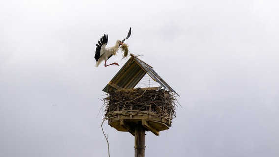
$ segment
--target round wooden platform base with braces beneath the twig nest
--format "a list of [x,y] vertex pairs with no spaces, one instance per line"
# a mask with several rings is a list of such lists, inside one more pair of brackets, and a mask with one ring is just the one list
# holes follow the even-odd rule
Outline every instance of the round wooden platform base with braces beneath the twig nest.
[[151,131],[155,135],[159,135],[160,131],[169,129],[171,126],[171,119],[168,117],[160,116],[156,113],[146,112],[146,113],[121,113],[115,112],[112,114],[109,120],[109,125],[115,128],[117,131],[127,131],[135,136],[135,126],[138,122],[146,129],[146,131]]

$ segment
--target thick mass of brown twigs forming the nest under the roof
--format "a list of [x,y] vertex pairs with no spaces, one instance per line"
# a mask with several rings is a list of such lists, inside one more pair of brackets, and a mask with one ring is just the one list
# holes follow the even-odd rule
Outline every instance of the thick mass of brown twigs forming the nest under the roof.
[[122,115],[153,115],[171,120],[175,117],[175,97],[166,89],[122,89],[104,98],[105,118]]

